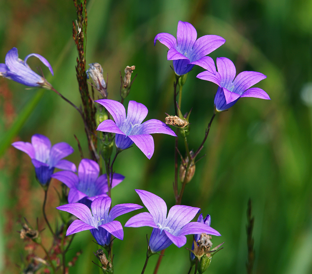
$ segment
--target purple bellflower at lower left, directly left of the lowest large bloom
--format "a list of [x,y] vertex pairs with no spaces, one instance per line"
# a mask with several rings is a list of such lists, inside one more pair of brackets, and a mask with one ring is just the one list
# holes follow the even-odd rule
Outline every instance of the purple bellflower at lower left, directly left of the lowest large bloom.
[[90,229],[91,234],[99,245],[109,245],[111,235],[123,240],[124,231],[119,221],[115,218],[140,209],[143,206],[138,204],[117,204],[110,210],[110,197],[98,197],[91,203],[91,211],[85,204],[74,203],[64,204],[57,209],[69,212],[75,215],[79,220],[71,223],[67,229],[66,236],[80,231]]

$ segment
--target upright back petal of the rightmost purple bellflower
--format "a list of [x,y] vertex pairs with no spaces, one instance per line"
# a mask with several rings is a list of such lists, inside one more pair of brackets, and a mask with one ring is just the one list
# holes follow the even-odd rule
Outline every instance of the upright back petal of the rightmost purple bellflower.
[[221,87],[225,87],[227,89],[231,89],[232,87],[234,87],[234,84],[232,84],[232,82],[236,75],[236,69],[233,62],[226,57],[218,57],[217,68],[221,76]]

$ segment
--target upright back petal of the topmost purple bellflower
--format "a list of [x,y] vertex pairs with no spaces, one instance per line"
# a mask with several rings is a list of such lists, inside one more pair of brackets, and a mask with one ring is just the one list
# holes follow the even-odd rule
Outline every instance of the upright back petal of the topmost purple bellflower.
[[177,49],[180,52],[192,49],[197,38],[197,31],[192,24],[188,22],[178,22],[177,30]]

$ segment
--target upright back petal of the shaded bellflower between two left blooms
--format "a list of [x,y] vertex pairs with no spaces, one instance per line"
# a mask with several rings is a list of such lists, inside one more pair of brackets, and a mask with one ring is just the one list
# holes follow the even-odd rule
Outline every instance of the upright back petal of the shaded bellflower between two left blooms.
[[97,162],[90,159],[82,159],[78,166],[78,177],[84,185],[94,184],[100,173]]

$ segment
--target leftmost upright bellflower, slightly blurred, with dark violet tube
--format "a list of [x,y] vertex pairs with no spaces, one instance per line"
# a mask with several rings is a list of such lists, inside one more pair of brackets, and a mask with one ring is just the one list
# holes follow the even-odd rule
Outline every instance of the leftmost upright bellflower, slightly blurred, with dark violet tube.
[[46,185],[50,182],[55,167],[74,172],[77,171],[76,166],[72,162],[62,160],[74,152],[74,149],[65,142],[57,143],[51,147],[48,137],[35,134],[32,136],[32,143],[14,142],[12,146],[24,151],[32,159],[37,180],[41,185]]

